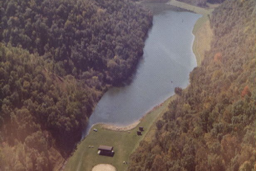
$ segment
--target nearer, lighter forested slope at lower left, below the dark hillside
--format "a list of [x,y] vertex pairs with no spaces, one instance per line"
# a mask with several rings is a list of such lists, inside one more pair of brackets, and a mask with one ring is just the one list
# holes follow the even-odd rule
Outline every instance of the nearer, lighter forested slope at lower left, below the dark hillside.
[[51,170],[79,140],[95,91],[50,73],[42,56],[10,45],[1,45],[1,53],[0,168]]

